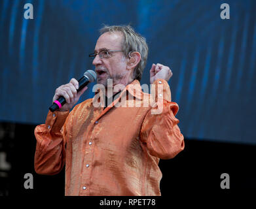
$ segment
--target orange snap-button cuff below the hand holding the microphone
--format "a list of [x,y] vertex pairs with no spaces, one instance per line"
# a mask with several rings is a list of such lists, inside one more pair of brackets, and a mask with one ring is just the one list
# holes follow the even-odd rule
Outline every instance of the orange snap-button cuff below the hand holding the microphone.
[[67,116],[69,115],[69,110],[67,111],[54,111],[51,112],[49,110],[47,114],[47,118],[45,121],[46,128],[49,131],[60,131],[62,129],[62,126],[65,123],[65,120]]

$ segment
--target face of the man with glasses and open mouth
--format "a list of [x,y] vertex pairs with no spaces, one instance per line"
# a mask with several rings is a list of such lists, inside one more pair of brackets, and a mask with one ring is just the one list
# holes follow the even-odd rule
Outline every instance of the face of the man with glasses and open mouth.
[[[97,40],[94,52],[101,50],[122,50],[121,33],[103,33]],[[123,52],[109,52],[109,58],[100,58],[97,55],[92,62],[97,73],[97,83],[107,87],[107,79],[113,79],[113,85],[125,84],[127,80],[126,57]]]

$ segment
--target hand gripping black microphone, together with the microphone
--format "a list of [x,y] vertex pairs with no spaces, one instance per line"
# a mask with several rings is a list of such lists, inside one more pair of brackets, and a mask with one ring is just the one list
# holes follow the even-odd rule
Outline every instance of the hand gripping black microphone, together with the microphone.
[[88,89],[87,85],[94,82],[94,80],[96,80],[96,73],[89,70],[84,72],[84,75],[78,81],[72,78],[68,84],[57,88],[52,99],[53,104],[49,108],[50,111],[70,110],[79,101],[82,93]]

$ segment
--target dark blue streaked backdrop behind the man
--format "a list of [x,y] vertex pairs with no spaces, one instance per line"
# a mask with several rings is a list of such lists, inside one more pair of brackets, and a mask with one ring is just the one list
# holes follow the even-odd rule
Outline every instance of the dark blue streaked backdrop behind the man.
[[174,72],[185,137],[256,144],[256,1],[1,0],[0,12],[0,121],[44,123],[55,89],[94,69],[88,54],[102,24],[131,24],[149,44],[141,84],[152,63]]

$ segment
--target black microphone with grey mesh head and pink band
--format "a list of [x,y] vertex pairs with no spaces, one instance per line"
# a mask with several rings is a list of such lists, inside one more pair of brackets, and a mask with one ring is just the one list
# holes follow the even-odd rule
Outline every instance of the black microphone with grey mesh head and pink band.
[[[78,80],[79,82],[79,88],[77,89],[77,92],[79,92],[84,86],[87,86],[90,82],[94,82],[96,80],[96,73],[94,71],[88,70],[84,72],[84,75],[82,78]],[[66,103],[64,97],[60,97],[56,101],[53,102],[53,104],[49,107],[49,110],[54,112],[55,110],[58,110],[62,108],[62,106]]]

